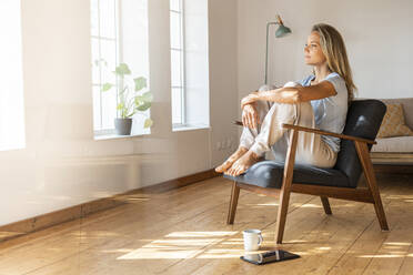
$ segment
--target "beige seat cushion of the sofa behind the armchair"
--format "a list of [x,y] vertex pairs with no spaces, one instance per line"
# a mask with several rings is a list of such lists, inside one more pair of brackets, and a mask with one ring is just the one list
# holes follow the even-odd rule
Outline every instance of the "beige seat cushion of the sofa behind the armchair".
[[413,136],[395,136],[376,139],[372,152],[413,153]]

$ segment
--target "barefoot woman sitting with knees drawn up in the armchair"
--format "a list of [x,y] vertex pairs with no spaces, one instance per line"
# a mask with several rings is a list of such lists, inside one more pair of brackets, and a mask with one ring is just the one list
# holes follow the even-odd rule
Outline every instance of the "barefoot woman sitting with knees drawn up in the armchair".
[[[242,99],[240,146],[216,172],[240,175],[270,150],[276,161],[284,161],[289,131],[282,123],[343,131],[355,85],[341,34],[329,24],[313,26],[304,58],[313,67],[312,75],[294,85],[256,91]],[[332,167],[339,151],[338,138],[300,132],[295,162]]]

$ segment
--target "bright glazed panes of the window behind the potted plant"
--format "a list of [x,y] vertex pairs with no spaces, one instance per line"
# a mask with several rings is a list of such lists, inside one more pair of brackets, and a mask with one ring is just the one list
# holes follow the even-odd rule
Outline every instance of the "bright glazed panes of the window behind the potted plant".
[[91,0],[93,125],[95,132],[114,129],[117,93],[102,92],[115,83],[119,63],[118,0]]

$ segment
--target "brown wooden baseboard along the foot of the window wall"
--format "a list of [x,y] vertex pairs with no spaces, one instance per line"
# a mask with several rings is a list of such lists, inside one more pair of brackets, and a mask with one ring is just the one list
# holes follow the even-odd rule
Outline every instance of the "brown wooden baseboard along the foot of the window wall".
[[180,179],[162,182],[148,187],[132,190],[127,193],[118,194],[111,197],[104,197],[82,203],[68,208],[54,211],[36,217],[19,221],[16,223],[2,225],[0,226],[0,242],[23,236],[29,233],[44,230],[53,225],[69,222],[79,217],[84,217],[99,211],[109,210],[122,204],[127,204],[128,200],[125,200],[127,198],[125,196],[131,195],[133,193],[141,194],[163,193],[173,189],[187,186],[192,183],[208,180],[218,175],[219,174],[214,170],[208,170]]

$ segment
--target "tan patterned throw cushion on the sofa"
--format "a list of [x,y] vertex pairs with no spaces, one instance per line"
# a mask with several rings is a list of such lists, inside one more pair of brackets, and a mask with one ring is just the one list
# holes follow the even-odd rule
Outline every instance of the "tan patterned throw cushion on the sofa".
[[413,135],[413,131],[404,122],[402,104],[386,103],[386,112],[380,126],[377,138]]

